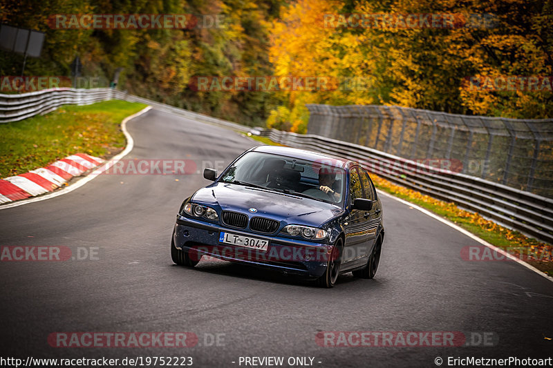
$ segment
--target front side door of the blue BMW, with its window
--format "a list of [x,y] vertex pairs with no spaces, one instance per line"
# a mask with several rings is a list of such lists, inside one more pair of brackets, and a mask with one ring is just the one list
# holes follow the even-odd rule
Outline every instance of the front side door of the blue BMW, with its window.
[[368,246],[368,215],[366,211],[353,209],[355,198],[363,198],[362,180],[357,167],[350,169],[349,175],[349,203],[348,209],[350,215],[344,223],[344,232],[346,233],[346,242],[342,262],[355,262],[362,260],[370,249]]

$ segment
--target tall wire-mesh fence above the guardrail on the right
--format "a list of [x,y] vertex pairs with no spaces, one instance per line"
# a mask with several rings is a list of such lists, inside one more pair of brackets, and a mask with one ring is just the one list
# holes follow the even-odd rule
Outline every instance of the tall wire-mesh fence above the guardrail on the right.
[[308,134],[406,159],[455,159],[465,175],[553,197],[553,119],[508,119],[400,106],[307,104]]

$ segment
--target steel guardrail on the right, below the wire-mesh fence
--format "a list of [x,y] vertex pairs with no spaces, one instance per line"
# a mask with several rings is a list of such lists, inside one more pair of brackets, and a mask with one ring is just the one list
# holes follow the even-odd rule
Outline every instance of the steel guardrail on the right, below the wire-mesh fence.
[[440,170],[373,148],[319,135],[263,130],[274,142],[353,159],[394,184],[420,191],[553,244],[553,199],[461,173]]

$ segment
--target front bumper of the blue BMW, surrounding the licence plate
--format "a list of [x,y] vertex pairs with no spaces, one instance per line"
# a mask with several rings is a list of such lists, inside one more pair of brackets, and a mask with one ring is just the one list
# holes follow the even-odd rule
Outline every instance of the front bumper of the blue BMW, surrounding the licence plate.
[[[219,241],[221,231],[268,240],[267,251]],[[177,215],[173,240],[177,249],[189,252],[192,260],[209,255],[221,260],[277,269],[283,273],[319,278],[326,271],[331,244],[307,242],[277,235],[263,235]]]

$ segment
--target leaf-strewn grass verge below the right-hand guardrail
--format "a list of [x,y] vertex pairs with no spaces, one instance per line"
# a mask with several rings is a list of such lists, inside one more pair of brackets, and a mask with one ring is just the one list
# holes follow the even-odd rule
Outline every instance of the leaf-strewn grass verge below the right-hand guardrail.
[[[263,144],[276,144],[267,137],[252,136],[251,138]],[[278,144],[282,146],[281,144]],[[493,221],[486,220],[478,213],[460,209],[453,203],[436,200],[403,186],[395,185],[388,180],[371,173],[371,178],[377,188],[396,197],[402,198],[440,217],[443,217],[463,229],[470,231],[479,238],[512,253],[536,269],[553,276],[553,246],[529,238],[518,231],[509,230]],[[482,256],[482,259],[486,259]]]

